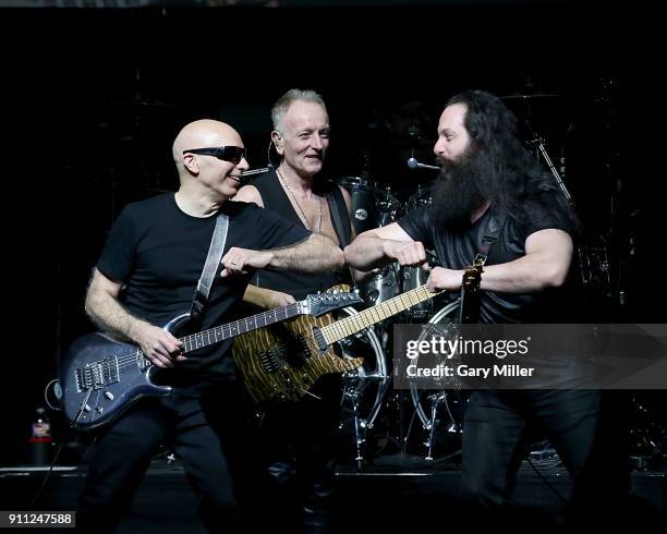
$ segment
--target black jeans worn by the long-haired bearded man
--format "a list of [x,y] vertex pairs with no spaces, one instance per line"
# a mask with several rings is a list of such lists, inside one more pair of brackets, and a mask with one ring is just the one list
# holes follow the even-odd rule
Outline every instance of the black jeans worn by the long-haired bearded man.
[[[570,518],[608,515],[628,488],[624,417],[598,390],[475,391],[465,412],[463,488],[487,511],[509,503],[526,430],[551,441],[568,469]],[[614,392],[611,392],[614,393]]]

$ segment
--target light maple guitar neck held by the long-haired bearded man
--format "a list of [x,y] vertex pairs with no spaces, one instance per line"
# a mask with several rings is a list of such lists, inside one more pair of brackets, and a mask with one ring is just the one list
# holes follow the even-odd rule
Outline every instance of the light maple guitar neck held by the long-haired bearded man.
[[387,317],[400,314],[409,307],[415,306],[428,299],[433,299],[439,293],[430,293],[426,286],[408,291],[403,294],[389,299],[381,304],[364,310],[344,319],[337,320],[320,329],[327,344],[340,341],[364,328],[375,325]]

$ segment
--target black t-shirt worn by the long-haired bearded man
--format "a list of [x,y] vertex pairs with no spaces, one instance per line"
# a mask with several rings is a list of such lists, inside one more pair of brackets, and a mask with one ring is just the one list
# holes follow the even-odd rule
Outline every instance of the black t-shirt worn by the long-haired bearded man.
[[[430,219],[430,208],[423,207],[408,213],[399,226],[414,241],[421,241],[426,248],[435,250],[442,266],[449,269],[463,269],[472,265],[481,252],[482,240],[487,232],[488,220],[493,217],[488,209],[473,224],[464,229],[435,228]],[[525,240],[532,233],[545,229],[568,231],[550,210],[544,210],[527,223],[520,224],[514,218],[505,217],[498,241],[490,247],[486,265],[512,262],[525,255]],[[482,291],[480,302],[481,323],[548,323],[549,292],[535,294],[499,293]]]

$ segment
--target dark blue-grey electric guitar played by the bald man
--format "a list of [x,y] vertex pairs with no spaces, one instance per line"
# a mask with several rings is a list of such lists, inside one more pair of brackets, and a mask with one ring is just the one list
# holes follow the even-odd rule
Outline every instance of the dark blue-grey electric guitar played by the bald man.
[[[360,302],[359,295],[349,292],[308,295],[284,307],[182,337],[180,341],[186,354],[298,315],[317,317]],[[178,332],[189,320],[189,313],[179,315],[163,329]],[[104,333],[84,336],[61,359],[62,411],[69,423],[78,429],[98,428],[142,397],[168,395],[171,387],[153,383],[156,372],[159,373],[159,367],[154,366],[138,347],[116,341]]]

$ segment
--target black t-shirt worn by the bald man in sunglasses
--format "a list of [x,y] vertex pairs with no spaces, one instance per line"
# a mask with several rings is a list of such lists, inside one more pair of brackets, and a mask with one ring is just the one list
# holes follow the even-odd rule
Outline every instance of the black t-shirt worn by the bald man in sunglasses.
[[[256,204],[226,202],[229,216],[225,253],[232,246],[268,250],[305,240],[310,232]],[[174,316],[190,312],[196,283],[202,276],[216,217],[184,214],[173,193],[128,205],[113,224],[97,268],[124,284],[123,306],[134,316],[163,326]],[[221,278],[218,267],[209,304],[195,331],[234,318],[232,306],[243,298],[250,275]],[[177,335],[178,337],[178,335]],[[230,359],[223,357],[232,340],[187,354],[187,361],[165,380],[194,387],[233,376]]]

